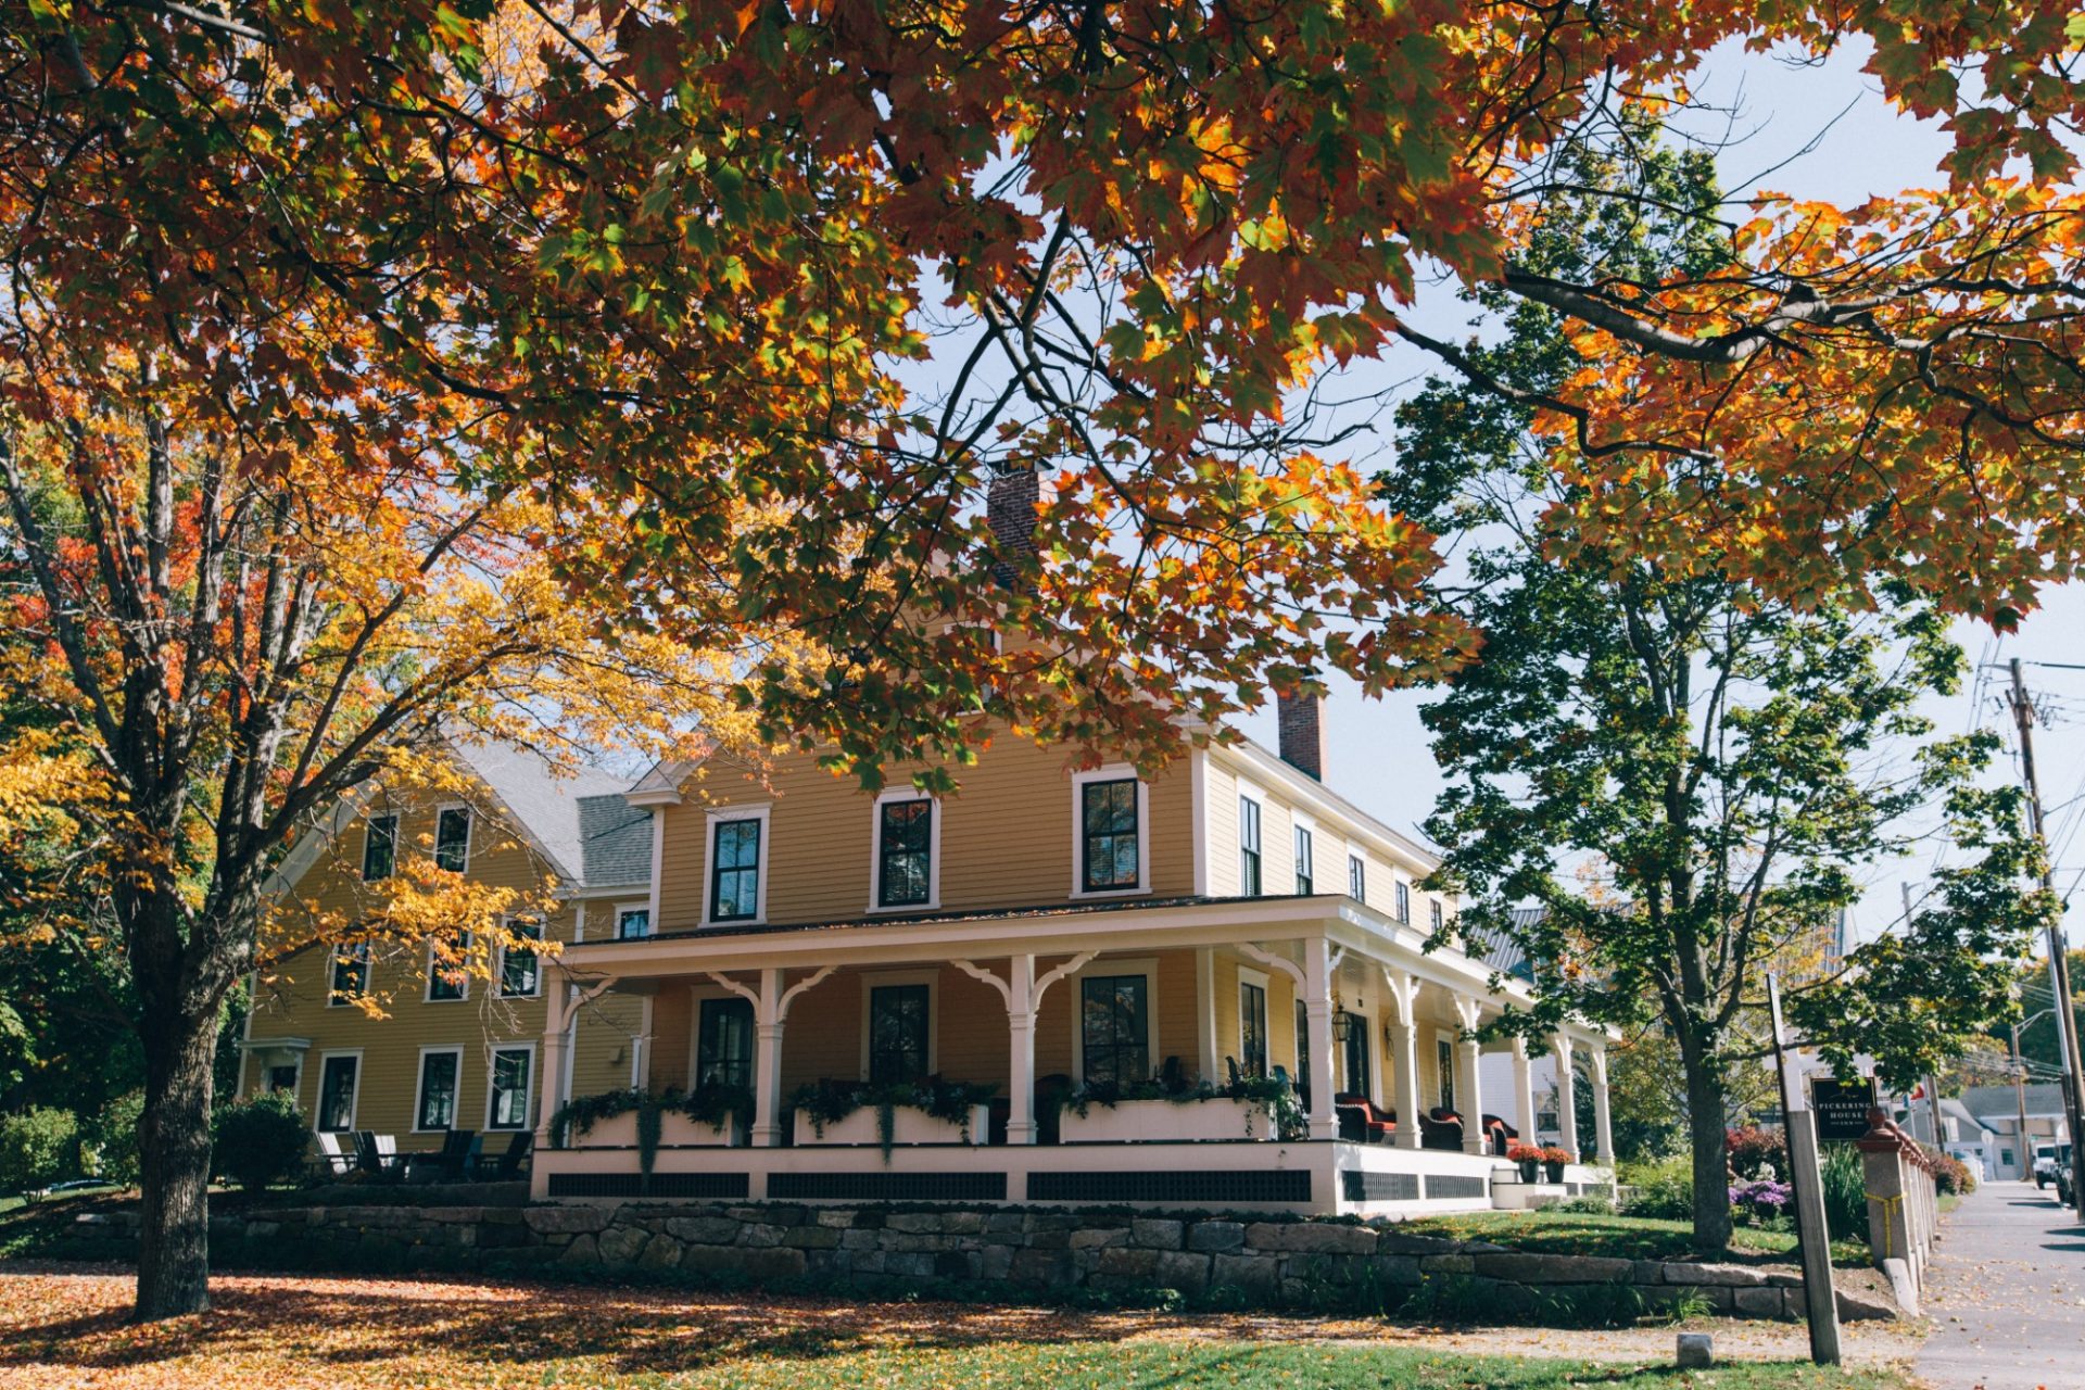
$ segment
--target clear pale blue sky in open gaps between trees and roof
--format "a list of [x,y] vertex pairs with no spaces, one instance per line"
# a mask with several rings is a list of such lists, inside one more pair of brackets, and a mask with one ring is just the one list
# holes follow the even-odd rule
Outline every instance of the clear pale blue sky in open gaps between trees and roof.
[[[1947,135],[1897,115],[1860,71],[1864,56],[1847,50],[1818,65],[1791,65],[1745,54],[1737,46],[1714,50],[1695,81],[1695,98],[1735,108],[1735,115],[1697,113],[1689,129],[1718,142],[1726,131],[1739,135],[1720,154],[1724,185],[1731,192],[1770,190],[1841,204],[1935,185],[1935,165],[1945,152]],[[1462,306],[1443,290],[1434,300],[1422,302],[1420,317],[1430,319],[1430,329],[1460,329]],[[1428,367],[1414,354],[1391,358],[1376,373],[1387,373],[1382,381],[1395,381]],[[1981,623],[1962,623],[1958,640],[1974,663],[2020,656],[2085,667],[2085,586],[2045,592],[2043,609],[2012,636],[2000,638]],[[1960,696],[1929,700],[1927,713],[1941,731],[1962,731],[1974,723],[2006,731],[2008,759],[2000,771],[2016,775],[2012,719],[1995,700],[2004,671],[1989,675],[1995,686],[1972,684]],[[2027,681],[2050,717],[2047,727],[2035,729],[2035,754],[2056,846],[2056,886],[2058,892],[2070,892],[2085,879],[2085,669],[2031,665]],[[1336,684],[1326,709],[1330,781],[1362,809],[1405,831],[1416,831],[1443,786],[1418,719],[1424,702],[1424,692],[1364,700],[1351,684]],[[1274,744],[1272,711],[1238,723],[1253,738]],[[1908,882],[1916,896],[1933,867],[1931,850],[1879,865],[1854,913],[1856,934],[1872,936],[1897,919],[1899,884]],[[2066,925],[2075,942],[2085,942],[2085,890],[2077,892]]]

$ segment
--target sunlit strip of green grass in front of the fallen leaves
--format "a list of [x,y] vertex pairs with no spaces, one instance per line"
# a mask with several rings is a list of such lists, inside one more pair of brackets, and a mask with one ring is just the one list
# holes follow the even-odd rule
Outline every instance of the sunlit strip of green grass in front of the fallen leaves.
[[[559,1384],[555,1380],[546,1384]],[[580,1382],[569,1382],[580,1384]],[[584,1382],[619,1386],[621,1382]],[[1683,1380],[1672,1367],[1633,1367],[1585,1361],[1524,1361],[1520,1357],[1468,1357],[1401,1346],[1324,1346],[1280,1342],[1122,1342],[965,1348],[905,1348],[819,1357],[769,1355],[751,1363],[701,1371],[686,1386],[705,1390],[821,1390],[826,1386],[878,1386],[928,1390],[963,1386],[1001,1390],[1176,1390],[1180,1386],[1322,1386],[1328,1390],[1670,1390],[1714,1384],[1718,1390],[1906,1390],[1912,1382],[1891,1371],[1837,1371],[1795,1363],[1722,1363],[1714,1382]]]

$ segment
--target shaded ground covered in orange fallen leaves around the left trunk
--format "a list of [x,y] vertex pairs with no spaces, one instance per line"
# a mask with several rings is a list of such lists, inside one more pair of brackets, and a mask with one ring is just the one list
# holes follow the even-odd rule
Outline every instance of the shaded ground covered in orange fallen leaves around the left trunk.
[[[25,1267],[75,1286],[81,1267]],[[6,1280],[0,1280],[4,1284]],[[77,1292],[77,1290],[73,1290]],[[133,1327],[127,1273],[94,1277],[100,1305],[54,1321],[0,1321],[0,1371],[25,1365],[119,1369],[190,1355],[294,1357],[319,1365],[427,1365],[438,1355],[475,1363],[598,1359],[617,1373],[696,1371],[719,1361],[819,1359],[876,1346],[961,1348],[1007,1342],[1118,1342],[1180,1319],[934,1302],[859,1302],[530,1286],[477,1280],[357,1280],[221,1275],[202,1317]],[[73,1296],[77,1309],[81,1298]],[[1251,1319],[1199,1315],[1213,1332]],[[4,1380],[4,1377],[0,1377]]]

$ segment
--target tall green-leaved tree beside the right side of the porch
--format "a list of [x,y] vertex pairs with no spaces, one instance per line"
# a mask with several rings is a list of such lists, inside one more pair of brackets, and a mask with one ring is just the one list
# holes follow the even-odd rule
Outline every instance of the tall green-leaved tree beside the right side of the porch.
[[[1628,160],[1587,150],[1560,181],[1635,198],[1557,192],[1526,250],[1545,273],[1708,277],[1728,256],[1685,215],[1716,202],[1706,156],[1647,140]],[[1480,302],[1507,329],[1468,348],[1487,375],[1547,394],[1576,371],[1549,308]],[[1503,934],[1535,961],[1537,1002],[1503,1027],[1655,1021],[1685,1077],[1695,1238],[1720,1250],[1724,1125],[1737,1071],[1762,1057],[1762,973],[1789,975],[1793,1015],[1835,1061],[1862,1052],[1904,1079],[1958,1054],[2010,1011],[2047,911],[2027,890],[2016,792],[1981,784],[1989,736],[1935,740],[1918,717],[1962,656],[1902,586],[1797,604],[1739,565],[1630,554],[1583,525],[1532,415],[1464,386],[1430,383],[1399,427],[1384,488],[1466,533],[1466,573],[1439,596],[1485,642],[1424,711],[1449,781],[1426,825],[1443,882],[1470,894],[1445,936]],[[1864,871],[1929,813],[1964,867],[1908,923],[1824,959]],[[1526,902],[1547,911],[1514,913]]]

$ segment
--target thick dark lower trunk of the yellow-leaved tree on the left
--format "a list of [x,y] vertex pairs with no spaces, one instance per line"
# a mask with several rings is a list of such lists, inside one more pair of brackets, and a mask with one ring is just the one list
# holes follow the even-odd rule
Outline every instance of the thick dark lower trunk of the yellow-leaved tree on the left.
[[[154,1019],[152,1015],[167,1015]],[[200,1019],[146,1007],[138,1125],[138,1305],[133,1321],[211,1307],[211,1090],[217,1009]]]

